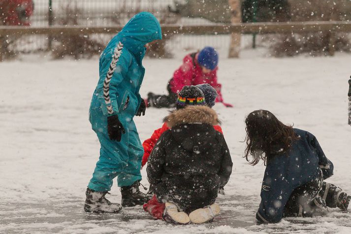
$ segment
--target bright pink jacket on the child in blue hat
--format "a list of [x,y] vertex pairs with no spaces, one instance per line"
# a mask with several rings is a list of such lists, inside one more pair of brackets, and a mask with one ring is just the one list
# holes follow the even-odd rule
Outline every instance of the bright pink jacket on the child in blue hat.
[[217,83],[217,70],[218,67],[209,73],[203,73],[200,65],[197,63],[197,54],[194,59],[192,59],[191,54],[188,54],[183,59],[183,65],[174,72],[173,78],[169,82],[170,88],[173,93],[178,94],[186,85],[208,83],[218,93],[216,102],[223,102],[222,85]]

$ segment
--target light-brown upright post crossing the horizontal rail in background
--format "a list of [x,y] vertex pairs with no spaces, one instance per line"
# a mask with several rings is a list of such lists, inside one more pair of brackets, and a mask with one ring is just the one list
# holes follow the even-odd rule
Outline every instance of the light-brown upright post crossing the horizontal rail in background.
[[[230,12],[231,12],[231,23],[241,22],[241,1],[240,0],[228,0]],[[229,45],[229,58],[239,58],[241,33],[231,33],[230,45]]]

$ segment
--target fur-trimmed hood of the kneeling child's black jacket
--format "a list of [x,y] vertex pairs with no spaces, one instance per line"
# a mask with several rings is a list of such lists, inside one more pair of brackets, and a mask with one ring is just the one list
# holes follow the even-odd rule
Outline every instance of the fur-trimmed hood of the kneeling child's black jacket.
[[199,105],[172,111],[164,121],[174,140],[196,154],[206,153],[213,146],[216,141],[213,125],[220,123],[216,111]]

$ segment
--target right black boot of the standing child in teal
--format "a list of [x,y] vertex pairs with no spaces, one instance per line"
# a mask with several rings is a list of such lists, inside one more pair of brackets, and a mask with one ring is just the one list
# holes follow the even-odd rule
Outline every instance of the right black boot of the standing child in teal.
[[130,186],[121,187],[122,206],[143,205],[148,201],[146,194],[139,190],[140,181],[135,181]]

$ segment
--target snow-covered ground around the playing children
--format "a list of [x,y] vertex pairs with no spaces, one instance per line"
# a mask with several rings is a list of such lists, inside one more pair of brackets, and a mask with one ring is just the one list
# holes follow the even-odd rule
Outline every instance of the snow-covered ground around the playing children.
[[[182,54],[183,55],[183,54]],[[351,213],[330,209],[324,217],[287,218],[256,225],[264,166],[242,158],[245,116],[259,108],[284,123],[315,134],[334,163],[327,181],[351,193],[351,127],[347,125],[347,80],[351,55],[275,59],[259,52],[220,61],[223,97],[217,104],[233,172],[220,195],[222,213],[212,223],[175,226],[153,220],[141,206],[121,214],[83,211],[86,186],[99,154],[88,121],[98,60],[49,61],[31,57],[0,63],[0,233],[351,233]],[[165,92],[181,63],[145,59],[141,88]],[[135,117],[141,140],[161,126],[166,109]],[[145,168],[144,185],[148,185]],[[107,198],[121,201],[116,185]]]

